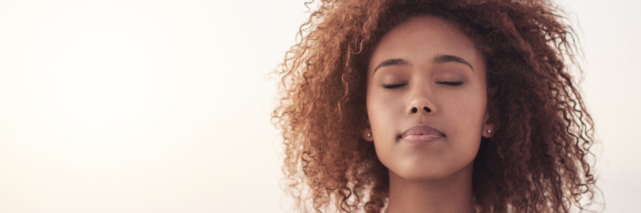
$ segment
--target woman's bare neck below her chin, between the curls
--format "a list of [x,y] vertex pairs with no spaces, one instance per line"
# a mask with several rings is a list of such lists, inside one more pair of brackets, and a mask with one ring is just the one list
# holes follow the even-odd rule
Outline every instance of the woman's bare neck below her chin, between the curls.
[[472,163],[438,180],[403,179],[390,170],[390,196],[386,213],[472,213]]

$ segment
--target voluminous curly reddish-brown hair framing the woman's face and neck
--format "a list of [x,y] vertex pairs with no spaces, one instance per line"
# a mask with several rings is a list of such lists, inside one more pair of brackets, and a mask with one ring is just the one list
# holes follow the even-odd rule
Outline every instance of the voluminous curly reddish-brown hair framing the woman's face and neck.
[[586,210],[596,189],[593,121],[570,75],[580,52],[562,14],[546,0],[322,0],[276,71],[272,122],[297,210],[384,209],[388,169],[360,137],[365,75],[380,38],[419,15],[455,24],[485,59],[500,126],[474,159],[478,212]]

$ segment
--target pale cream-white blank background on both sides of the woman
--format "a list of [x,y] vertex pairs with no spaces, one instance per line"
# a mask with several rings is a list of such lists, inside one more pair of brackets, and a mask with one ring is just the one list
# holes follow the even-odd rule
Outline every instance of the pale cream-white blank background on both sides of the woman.
[[[0,212],[288,209],[267,74],[303,3],[0,1]],[[641,4],[560,4],[581,29],[605,212],[641,212]]]

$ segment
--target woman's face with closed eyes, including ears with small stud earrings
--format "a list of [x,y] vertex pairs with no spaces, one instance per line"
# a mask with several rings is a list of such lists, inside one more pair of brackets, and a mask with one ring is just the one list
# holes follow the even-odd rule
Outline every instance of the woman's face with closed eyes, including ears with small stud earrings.
[[404,179],[471,172],[481,136],[491,136],[486,108],[485,64],[470,39],[444,20],[415,17],[372,54],[363,138]]

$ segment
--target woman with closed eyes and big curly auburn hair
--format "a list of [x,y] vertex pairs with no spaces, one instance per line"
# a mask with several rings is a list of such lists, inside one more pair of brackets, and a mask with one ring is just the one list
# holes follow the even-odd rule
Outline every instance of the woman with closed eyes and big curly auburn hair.
[[297,208],[585,209],[592,119],[559,13],[543,0],[322,1],[273,114]]

